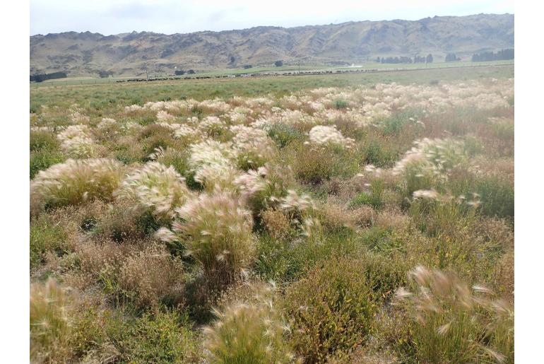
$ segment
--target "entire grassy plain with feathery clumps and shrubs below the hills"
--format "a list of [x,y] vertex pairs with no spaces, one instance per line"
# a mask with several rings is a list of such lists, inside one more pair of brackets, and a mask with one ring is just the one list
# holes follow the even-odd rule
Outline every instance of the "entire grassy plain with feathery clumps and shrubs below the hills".
[[63,82],[32,363],[514,363],[513,64]]

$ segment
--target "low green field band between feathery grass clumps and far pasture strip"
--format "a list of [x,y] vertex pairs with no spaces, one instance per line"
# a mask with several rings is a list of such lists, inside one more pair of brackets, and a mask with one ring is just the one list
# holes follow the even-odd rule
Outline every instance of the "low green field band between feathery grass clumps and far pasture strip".
[[[373,83],[430,83],[471,78],[511,78],[514,65],[480,66],[460,69],[426,69],[375,74],[326,74],[285,77],[212,78],[141,83],[97,83],[64,85],[42,83],[30,88],[30,109],[40,105],[67,107],[78,103],[91,113],[102,113],[117,105],[143,105],[148,101],[177,98],[232,98],[272,93],[285,95],[297,90],[319,87],[352,87]],[[100,80],[105,81],[105,80]]]

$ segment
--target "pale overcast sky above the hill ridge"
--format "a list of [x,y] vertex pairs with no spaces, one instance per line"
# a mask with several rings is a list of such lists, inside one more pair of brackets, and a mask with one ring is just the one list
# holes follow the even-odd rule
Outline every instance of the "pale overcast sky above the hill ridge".
[[30,35],[191,33],[254,26],[293,27],[360,20],[514,13],[513,0],[30,0]]

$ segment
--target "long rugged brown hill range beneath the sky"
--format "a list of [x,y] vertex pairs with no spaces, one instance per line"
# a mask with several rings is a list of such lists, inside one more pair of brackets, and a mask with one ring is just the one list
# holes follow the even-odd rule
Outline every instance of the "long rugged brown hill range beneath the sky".
[[[58,33],[30,37],[30,74],[71,75],[113,71],[140,75],[146,67],[173,73],[182,69],[252,64],[351,64],[377,56],[474,52],[514,47],[514,15],[435,16],[421,20],[359,21],[296,28],[256,27],[223,32]],[[232,57],[234,61],[232,62]]]

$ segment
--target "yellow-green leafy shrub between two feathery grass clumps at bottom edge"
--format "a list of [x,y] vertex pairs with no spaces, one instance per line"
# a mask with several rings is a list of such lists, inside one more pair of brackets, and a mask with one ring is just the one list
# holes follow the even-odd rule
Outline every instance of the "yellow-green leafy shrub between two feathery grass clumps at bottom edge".
[[372,287],[357,260],[321,262],[285,293],[290,342],[308,363],[323,363],[365,342],[375,311]]

